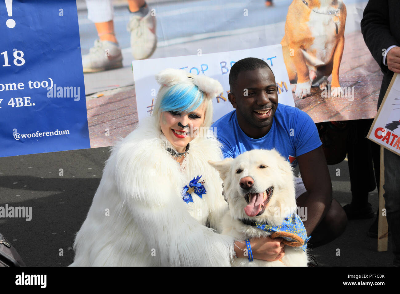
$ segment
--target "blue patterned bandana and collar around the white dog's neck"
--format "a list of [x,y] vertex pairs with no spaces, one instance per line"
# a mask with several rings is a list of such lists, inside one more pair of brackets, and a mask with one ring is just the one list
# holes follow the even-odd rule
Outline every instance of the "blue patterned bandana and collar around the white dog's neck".
[[301,247],[305,252],[307,242],[311,236],[307,238],[306,228],[300,217],[294,212],[290,216],[284,218],[284,221],[279,226],[270,226],[267,223],[255,222],[248,219],[240,219],[243,224],[259,228],[260,230],[270,232],[271,238],[281,237],[283,243],[292,247]]

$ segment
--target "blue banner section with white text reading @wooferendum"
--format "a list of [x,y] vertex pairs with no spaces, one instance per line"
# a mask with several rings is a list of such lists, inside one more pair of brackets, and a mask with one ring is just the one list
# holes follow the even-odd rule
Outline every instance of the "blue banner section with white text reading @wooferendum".
[[90,148],[76,1],[0,2],[0,157]]

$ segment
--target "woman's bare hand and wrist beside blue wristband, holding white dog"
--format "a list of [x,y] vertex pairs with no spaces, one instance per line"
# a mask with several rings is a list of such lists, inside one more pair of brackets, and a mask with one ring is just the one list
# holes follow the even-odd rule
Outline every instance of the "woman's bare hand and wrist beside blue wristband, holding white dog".
[[[249,240],[253,253],[253,259],[275,261],[280,260],[285,255],[285,244],[282,243],[282,238],[271,239],[269,237],[262,237],[251,238]],[[236,251],[236,255],[238,256],[238,258],[248,258],[248,255],[244,256],[245,249],[246,243],[244,241],[235,242],[234,250]]]

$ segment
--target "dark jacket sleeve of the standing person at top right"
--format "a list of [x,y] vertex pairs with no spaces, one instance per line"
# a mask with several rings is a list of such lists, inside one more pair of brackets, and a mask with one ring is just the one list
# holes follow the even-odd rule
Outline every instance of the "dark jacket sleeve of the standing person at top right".
[[368,1],[361,20],[361,32],[365,44],[378,62],[382,72],[388,74],[388,67],[383,64],[382,49],[387,49],[392,45],[399,46],[390,31],[388,0]]

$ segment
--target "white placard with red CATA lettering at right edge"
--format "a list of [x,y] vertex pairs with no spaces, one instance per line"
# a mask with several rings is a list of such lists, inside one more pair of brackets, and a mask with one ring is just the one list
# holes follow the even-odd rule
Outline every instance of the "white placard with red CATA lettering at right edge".
[[400,155],[400,76],[394,74],[368,139]]

